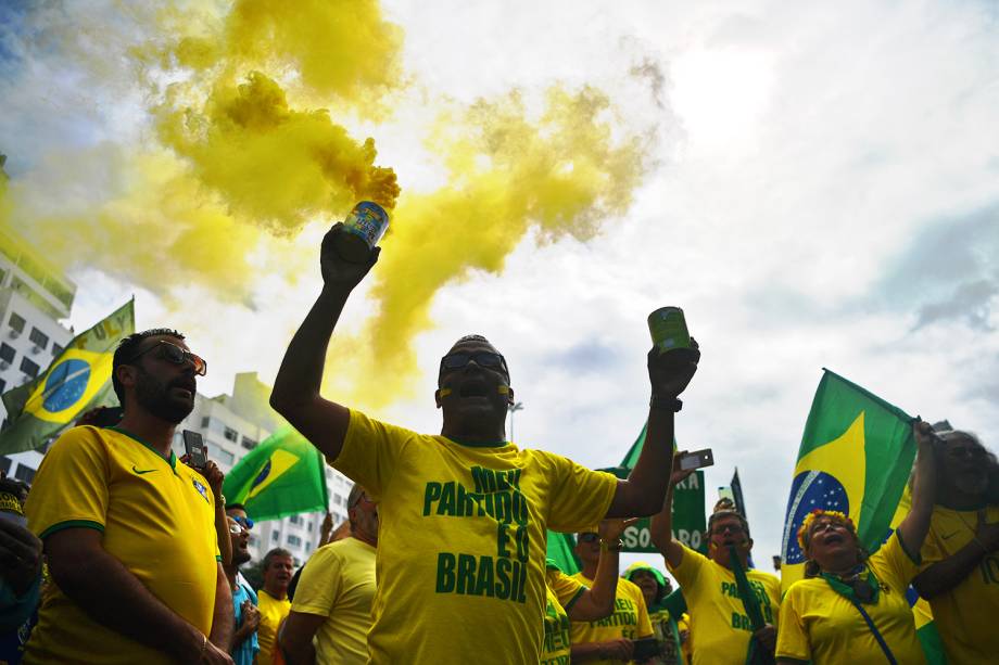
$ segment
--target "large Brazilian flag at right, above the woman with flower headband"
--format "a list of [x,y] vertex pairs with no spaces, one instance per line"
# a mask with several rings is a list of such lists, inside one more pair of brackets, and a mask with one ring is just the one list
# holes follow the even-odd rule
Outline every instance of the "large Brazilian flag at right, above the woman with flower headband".
[[912,418],[824,370],[805,423],[784,522],[781,583],[805,574],[797,533],[812,510],[840,511],[860,545],[876,550],[888,533],[915,459]]

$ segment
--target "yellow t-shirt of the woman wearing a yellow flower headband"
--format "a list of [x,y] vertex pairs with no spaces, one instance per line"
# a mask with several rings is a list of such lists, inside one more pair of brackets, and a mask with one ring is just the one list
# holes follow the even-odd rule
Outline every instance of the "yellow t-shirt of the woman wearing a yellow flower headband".
[[[868,566],[881,583],[881,591],[876,603],[863,604],[864,611],[896,661],[906,665],[925,663],[906,599],[906,589],[918,567],[902,548],[897,532],[871,557]],[[695,610],[691,616],[697,621]],[[885,662],[884,651],[860,612],[822,577],[799,579],[787,589],[781,606],[776,656],[811,661],[814,665]]]

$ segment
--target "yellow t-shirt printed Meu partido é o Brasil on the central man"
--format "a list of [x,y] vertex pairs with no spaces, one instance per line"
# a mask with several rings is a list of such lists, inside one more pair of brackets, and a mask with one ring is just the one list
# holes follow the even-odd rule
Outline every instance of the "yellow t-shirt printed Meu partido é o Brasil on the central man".
[[331,463],[379,500],[375,664],[536,663],[545,529],[598,522],[617,487],[551,452],[465,446],[359,411]]

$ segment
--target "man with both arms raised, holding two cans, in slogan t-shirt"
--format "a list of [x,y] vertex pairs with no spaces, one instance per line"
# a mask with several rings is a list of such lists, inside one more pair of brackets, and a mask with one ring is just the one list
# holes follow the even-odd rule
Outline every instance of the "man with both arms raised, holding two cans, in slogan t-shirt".
[[627,481],[508,442],[509,371],[481,335],[463,337],[441,359],[440,435],[374,420],[319,395],[333,328],[378,258],[378,250],[362,264],[341,258],[340,232],[334,227],[323,241],[324,287],[288,347],[270,404],[378,500],[371,662],[538,663],[545,529],[578,532],[605,516],[659,509],[676,397],[700,354],[649,354],[647,444]]

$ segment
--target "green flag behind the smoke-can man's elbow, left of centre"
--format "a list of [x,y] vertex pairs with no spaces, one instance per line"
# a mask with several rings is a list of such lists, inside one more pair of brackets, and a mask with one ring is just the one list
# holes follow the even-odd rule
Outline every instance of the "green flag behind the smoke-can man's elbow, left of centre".
[[326,461],[315,446],[292,427],[263,440],[226,474],[223,493],[263,522],[306,512],[325,512]]

